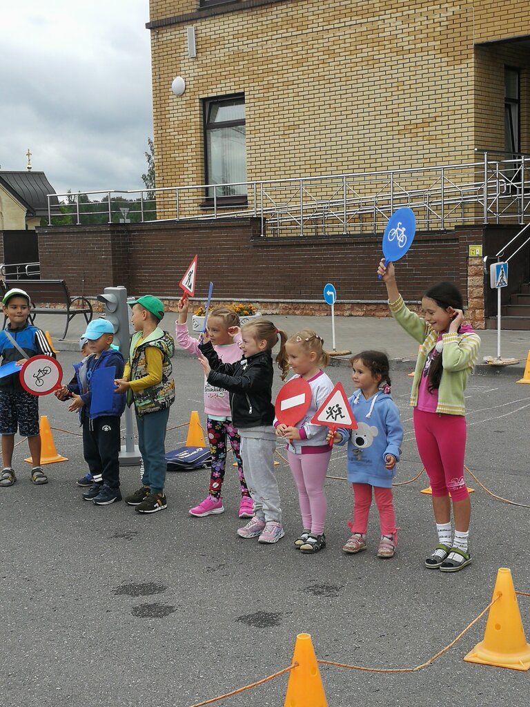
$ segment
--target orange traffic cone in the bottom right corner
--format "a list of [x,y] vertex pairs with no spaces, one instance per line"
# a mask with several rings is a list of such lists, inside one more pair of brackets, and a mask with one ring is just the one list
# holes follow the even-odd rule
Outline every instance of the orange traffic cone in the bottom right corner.
[[505,567],[497,572],[492,598],[495,597],[500,598],[490,608],[484,640],[477,643],[464,660],[512,670],[528,670],[530,644],[526,643],[524,636],[512,573]]

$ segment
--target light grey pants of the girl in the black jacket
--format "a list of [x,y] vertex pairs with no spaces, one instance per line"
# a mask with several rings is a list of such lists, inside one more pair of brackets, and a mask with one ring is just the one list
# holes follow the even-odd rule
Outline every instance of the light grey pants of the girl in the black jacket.
[[276,437],[271,438],[269,428],[266,429],[264,438],[247,437],[246,430],[240,429],[243,469],[254,499],[254,515],[261,520],[281,522],[280,492],[274,475]]

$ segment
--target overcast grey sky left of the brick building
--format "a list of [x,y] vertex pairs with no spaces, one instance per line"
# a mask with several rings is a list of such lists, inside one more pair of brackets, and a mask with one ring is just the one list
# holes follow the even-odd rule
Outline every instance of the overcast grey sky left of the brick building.
[[148,0],[10,0],[0,19],[0,168],[57,193],[143,186],[153,135]]

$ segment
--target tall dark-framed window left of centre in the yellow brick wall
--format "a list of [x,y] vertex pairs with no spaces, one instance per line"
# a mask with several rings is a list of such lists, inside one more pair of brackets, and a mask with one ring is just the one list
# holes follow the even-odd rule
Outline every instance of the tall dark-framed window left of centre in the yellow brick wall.
[[[244,95],[204,101],[204,154],[208,185],[247,180]],[[206,197],[213,197],[213,189],[206,191]],[[216,197],[245,197],[246,194],[244,184],[216,189]]]

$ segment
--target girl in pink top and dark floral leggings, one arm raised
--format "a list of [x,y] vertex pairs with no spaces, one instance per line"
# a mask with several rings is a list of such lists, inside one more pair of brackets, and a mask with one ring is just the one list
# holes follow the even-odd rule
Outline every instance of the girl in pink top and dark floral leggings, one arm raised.
[[[189,310],[189,300],[183,297],[177,305],[179,310],[179,320],[175,327],[177,343],[182,349],[189,351],[196,356],[199,354],[199,341],[193,339],[188,334],[187,315]],[[206,322],[206,332],[210,339],[213,350],[224,363],[235,363],[241,358],[241,349],[234,340],[239,332],[240,318],[230,309],[216,308],[208,312]],[[225,478],[226,464],[226,444],[227,437],[230,440],[232,452],[234,452],[237,462],[237,472],[240,477],[240,518],[252,518],[254,515],[254,501],[247,488],[247,481],[243,475],[243,465],[240,455],[241,439],[237,429],[232,424],[232,412],[228,395],[223,388],[214,387],[208,381],[204,381],[204,411],[208,416],[206,419],[206,429],[208,430],[208,440],[211,452],[211,475],[210,489],[208,496],[201,501],[198,506],[189,510],[189,515],[196,518],[203,518],[205,515],[217,515],[223,513],[223,498],[221,498],[221,487]]]

